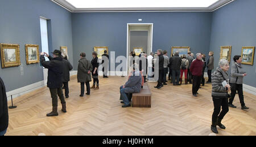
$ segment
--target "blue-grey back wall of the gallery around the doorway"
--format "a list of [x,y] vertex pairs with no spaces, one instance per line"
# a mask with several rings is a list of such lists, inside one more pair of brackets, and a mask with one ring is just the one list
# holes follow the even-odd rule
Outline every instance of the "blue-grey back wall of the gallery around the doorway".
[[127,23],[154,23],[153,51],[163,49],[171,54],[171,46],[191,46],[193,53],[209,51],[211,12],[73,13],[75,70],[79,54],[85,52],[92,59],[94,46],[108,46],[115,57],[126,57]]

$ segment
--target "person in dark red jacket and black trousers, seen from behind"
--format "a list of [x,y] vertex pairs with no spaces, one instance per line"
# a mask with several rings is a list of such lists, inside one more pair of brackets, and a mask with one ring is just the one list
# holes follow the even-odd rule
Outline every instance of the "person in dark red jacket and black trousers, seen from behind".
[[196,60],[194,60],[191,63],[191,67],[190,67],[190,71],[193,75],[193,87],[192,87],[192,93],[194,97],[197,97],[197,93],[199,88],[200,88],[200,84],[201,84],[201,76],[203,73],[203,65],[204,62],[202,61],[202,54],[197,53],[196,54]]

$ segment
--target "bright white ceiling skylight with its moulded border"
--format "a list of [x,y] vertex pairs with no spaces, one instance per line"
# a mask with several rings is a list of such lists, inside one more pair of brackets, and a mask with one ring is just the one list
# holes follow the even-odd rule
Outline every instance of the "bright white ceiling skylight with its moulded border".
[[51,0],[71,12],[214,11],[234,0]]

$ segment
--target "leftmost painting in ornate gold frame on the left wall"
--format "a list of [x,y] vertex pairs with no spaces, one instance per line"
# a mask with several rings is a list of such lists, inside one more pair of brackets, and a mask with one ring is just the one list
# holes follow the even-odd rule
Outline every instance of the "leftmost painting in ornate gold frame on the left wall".
[[18,44],[0,44],[2,68],[20,66]]

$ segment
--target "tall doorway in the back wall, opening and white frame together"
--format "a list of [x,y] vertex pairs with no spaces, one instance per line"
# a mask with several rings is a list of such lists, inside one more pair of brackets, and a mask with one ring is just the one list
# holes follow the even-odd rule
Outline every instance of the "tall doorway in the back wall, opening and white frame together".
[[153,24],[152,23],[129,23],[127,24],[127,71],[129,72],[130,52],[134,48],[141,48],[143,52],[150,55],[153,45]]

